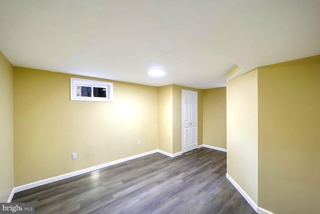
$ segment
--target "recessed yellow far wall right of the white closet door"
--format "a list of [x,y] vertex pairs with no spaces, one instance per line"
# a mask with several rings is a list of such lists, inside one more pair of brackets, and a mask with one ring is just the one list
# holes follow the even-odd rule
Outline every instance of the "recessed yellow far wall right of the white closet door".
[[226,149],[226,88],[203,90],[203,144]]

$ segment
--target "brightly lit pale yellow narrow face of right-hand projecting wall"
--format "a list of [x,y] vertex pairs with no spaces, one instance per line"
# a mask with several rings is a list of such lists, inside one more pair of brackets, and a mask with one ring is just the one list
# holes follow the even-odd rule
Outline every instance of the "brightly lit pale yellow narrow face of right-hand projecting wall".
[[226,170],[257,204],[257,70],[226,83]]

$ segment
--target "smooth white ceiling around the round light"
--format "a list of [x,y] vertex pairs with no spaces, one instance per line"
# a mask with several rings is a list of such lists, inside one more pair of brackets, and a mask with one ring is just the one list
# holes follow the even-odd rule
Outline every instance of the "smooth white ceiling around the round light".
[[0,0],[0,51],[13,66],[215,88],[234,65],[319,55],[320,1]]

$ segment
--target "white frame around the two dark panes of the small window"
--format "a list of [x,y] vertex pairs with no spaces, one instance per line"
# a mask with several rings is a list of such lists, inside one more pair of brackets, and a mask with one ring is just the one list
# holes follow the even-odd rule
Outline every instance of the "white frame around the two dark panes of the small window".
[[[91,97],[76,96],[77,86],[91,87]],[[93,87],[106,88],[107,89],[106,97],[94,97]],[[112,102],[113,101],[113,83],[71,77],[70,78],[70,100]]]

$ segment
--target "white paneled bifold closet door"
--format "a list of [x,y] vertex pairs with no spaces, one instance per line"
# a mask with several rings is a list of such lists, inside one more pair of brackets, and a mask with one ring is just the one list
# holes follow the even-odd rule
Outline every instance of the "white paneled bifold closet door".
[[182,153],[198,148],[197,92],[182,90]]

